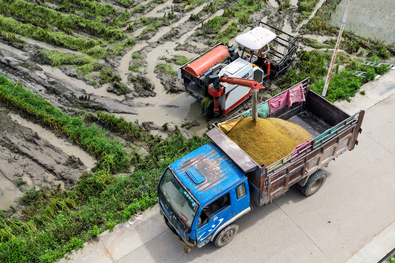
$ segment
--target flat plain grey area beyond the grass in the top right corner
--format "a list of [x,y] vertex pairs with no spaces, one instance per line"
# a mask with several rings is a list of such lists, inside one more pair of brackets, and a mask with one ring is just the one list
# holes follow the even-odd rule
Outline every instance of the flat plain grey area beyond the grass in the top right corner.
[[[330,24],[340,27],[348,0],[342,0]],[[366,38],[395,41],[395,0],[352,0],[345,30]]]

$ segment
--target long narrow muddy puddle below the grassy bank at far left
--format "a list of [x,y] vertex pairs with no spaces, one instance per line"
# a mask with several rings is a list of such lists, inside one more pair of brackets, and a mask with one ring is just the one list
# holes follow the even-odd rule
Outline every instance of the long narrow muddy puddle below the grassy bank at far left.
[[28,121],[27,119],[17,115],[10,113],[9,114],[13,120],[25,126],[27,128],[32,129],[33,131],[37,132],[39,136],[45,140],[47,140],[53,146],[61,149],[63,152],[67,153],[68,155],[74,155],[79,157],[83,164],[90,170],[96,163],[96,159],[89,155],[87,152],[81,150],[79,147],[73,145],[70,142],[67,142],[63,139],[56,137],[54,133],[51,131],[42,128],[40,125],[35,124],[33,122]]

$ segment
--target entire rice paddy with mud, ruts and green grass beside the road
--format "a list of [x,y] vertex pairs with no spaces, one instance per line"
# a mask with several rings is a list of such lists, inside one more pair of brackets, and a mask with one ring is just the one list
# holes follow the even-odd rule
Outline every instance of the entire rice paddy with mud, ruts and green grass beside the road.
[[[287,73],[320,92],[340,0],[0,0],[0,262],[49,263],[158,201],[165,167],[213,121],[177,69],[259,21],[297,36]],[[345,32],[327,99],[348,100],[394,45]],[[368,72],[358,78],[352,70]],[[149,188],[144,190],[141,177]]]

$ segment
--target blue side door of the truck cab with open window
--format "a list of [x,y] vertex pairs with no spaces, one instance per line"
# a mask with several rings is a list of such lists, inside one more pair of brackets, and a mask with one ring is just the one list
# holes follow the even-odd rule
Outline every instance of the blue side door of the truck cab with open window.
[[[235,191],[235,189],[232,189],[231,191]],[[215,201],[203,207],[198,218],[196,228],[198,243],[212,235],[220,225],[223,225],[235,216],[235,208],[232,205],[233,200],[231,200],[233,197],[234,194],[231,196],[231,193],[227,192],[218,197]]]

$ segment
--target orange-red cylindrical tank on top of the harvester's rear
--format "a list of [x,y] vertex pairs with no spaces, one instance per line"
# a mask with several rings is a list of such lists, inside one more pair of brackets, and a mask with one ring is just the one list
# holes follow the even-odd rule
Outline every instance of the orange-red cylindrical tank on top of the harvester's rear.
[[184,70],[196,77],[207,71],[209,68],[214,67],[222,60],[229,56],[228,48],[224,45],[219,45],[201,58],[192,62],[188,66],[184,67]]

